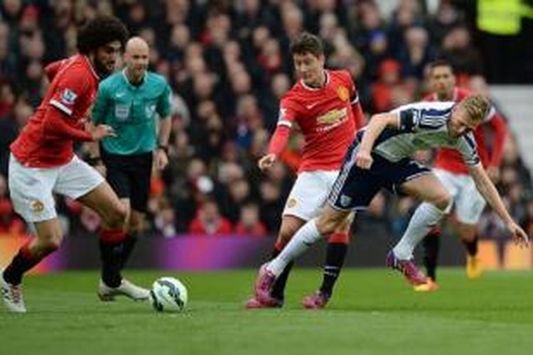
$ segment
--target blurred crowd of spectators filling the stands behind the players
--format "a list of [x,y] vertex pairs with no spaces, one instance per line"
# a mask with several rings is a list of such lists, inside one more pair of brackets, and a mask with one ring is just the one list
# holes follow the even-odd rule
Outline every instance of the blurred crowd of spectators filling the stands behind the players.
[[[525,68],[523,75],[484,67],[470,5],[444,0],[4,0],[0,234],[26,229],[12,211],[6,169],[9,143],[48,84],[43,67],[74,54],[77,26],[99,13],[118,16],[151,45],[151,70],[173,89],[170,163],[163,172],[154,171],[147,232],[267,236],[279,227],[303,144],[301,136],[293,135],[281,155],[283,163],[265,174],[257,169],[276,126],[279,99],[295,80],[291,38],[304,30],[320,35],[327,67],[351,72],[367,116],[426,94],[426,67],[437,58],[454,65],[458,84],[476,90],[487,92],[484,77],[491,83],[512,75],[532,80],[524,56],[515,56],[524,63],[514,65]],[[79,151],[85,153],[82,146]],[[431,152],[419,158],[430,162]],[[531,178],[513,136],[505,145],[497,187],[532,234]],[[400,234],[414,204],[378,195],[360,219]],[[57,205],[68,234],[89,234],[99,227],[98,217],[77,202],[58,197]],[[481,235],[501,236],[499,223],[487,212]]]

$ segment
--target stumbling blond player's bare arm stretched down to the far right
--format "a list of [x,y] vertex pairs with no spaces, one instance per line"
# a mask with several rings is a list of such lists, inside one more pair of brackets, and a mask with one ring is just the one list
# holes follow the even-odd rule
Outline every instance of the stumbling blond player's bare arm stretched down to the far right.
[[496,187],[488,177],[485,169],[483,169],[483,165],[481,163],[469,165],[469,170],[478,191],[505,223],[507,229],[512,233],[512,238],[515,243],[524,246],[527,245],[529,238],[526,232],[512,220],[512,217],[509,212],[507,212],[505,204],[498,194]]

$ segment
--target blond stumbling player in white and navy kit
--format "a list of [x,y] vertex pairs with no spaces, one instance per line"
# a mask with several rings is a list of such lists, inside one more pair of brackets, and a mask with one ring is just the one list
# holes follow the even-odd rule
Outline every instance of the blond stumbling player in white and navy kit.
[[423,201],[402,240],[387,254],[386,264],[403,273],[413,285],[426,283],[426,277],[412,261],[412,251],[449,212],[452,199],[431,170],[411,158],[422,149],[448,146],[460,151],[481,195],[505,222],[513,239],[527,245],[527,234],[505,209],[475,149],[471,131],[483,121],[489,109],[488,99],[470,95],[459,104],[416,103],[373,116],[348,150],[328,197],[328,206],[319,217],[302,226],[279,256],[259,271],[256,297],[259,300],[269,297],[269,290],[286,263],[344,223],[350,212],[365,209],[382,187],[402,190]]

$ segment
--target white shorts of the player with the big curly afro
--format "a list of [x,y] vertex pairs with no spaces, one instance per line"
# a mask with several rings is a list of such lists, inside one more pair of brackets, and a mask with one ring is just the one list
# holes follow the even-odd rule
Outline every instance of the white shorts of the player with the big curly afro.
[[57,217],[53,192],[72,200],[94,190],[102,175],[74,155],[70,163],[55,168],[30,168],[9,156],[9,194],[15,211],[26,222]]

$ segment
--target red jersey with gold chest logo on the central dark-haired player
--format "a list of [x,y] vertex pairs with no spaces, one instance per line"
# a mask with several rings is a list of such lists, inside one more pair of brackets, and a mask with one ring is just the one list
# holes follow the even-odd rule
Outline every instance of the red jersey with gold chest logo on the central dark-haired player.
[[320,88],[297,82],[279,105],[278,126],[290,128],[296,122],[303,133],[305,143],[298,172],[338,170],[355,137],[356,122],[362,121],[350,72],[326,70],[325,75],[326,83]]

